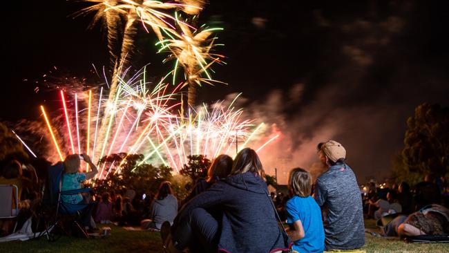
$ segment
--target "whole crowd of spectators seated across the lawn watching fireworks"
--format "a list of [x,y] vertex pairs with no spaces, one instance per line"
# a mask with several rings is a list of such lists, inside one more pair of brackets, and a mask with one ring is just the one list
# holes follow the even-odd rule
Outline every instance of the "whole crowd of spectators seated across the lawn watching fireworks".
[[[269,194],[258,155],[242,149],[234,160],[226,155],[215,158],[207,178],[197,180],[184,199],[176,198],[171,182],[164,181],[157,192],[93,189],[62,200],[88,204],[79,220],[87,232],[97,229],[96,223],[153,229],[160,231],[166,252],[182,252],[186,247],[193,252],[280,252],[288,247],[297,252],[357,250],[365,243],[363,218],[392,217],[384,224],[388,235],[448,232],[445,178],[429,174],[414,187],[406,182],[376,187],[370,182],[361,194],[340,143],[318,144],[318,157],[327,170],[312,185],[307,171],[292,169],[288,194]],[[82,171],[82,160],[89,172]],[[1,167],[0,184],[17,185],[18,224],[39,204],[45,167],[48,163],[39,164],[39,176],[35,167],[18,160]],[[62,190],[82,188],[97,172],[85,154],[67,156]],[[1,221],[1,236],[12,232],[12,221]],[[283,222],[289,224],[287,230],[280,229]],[[427,226],[419,227],[421,223]]]

